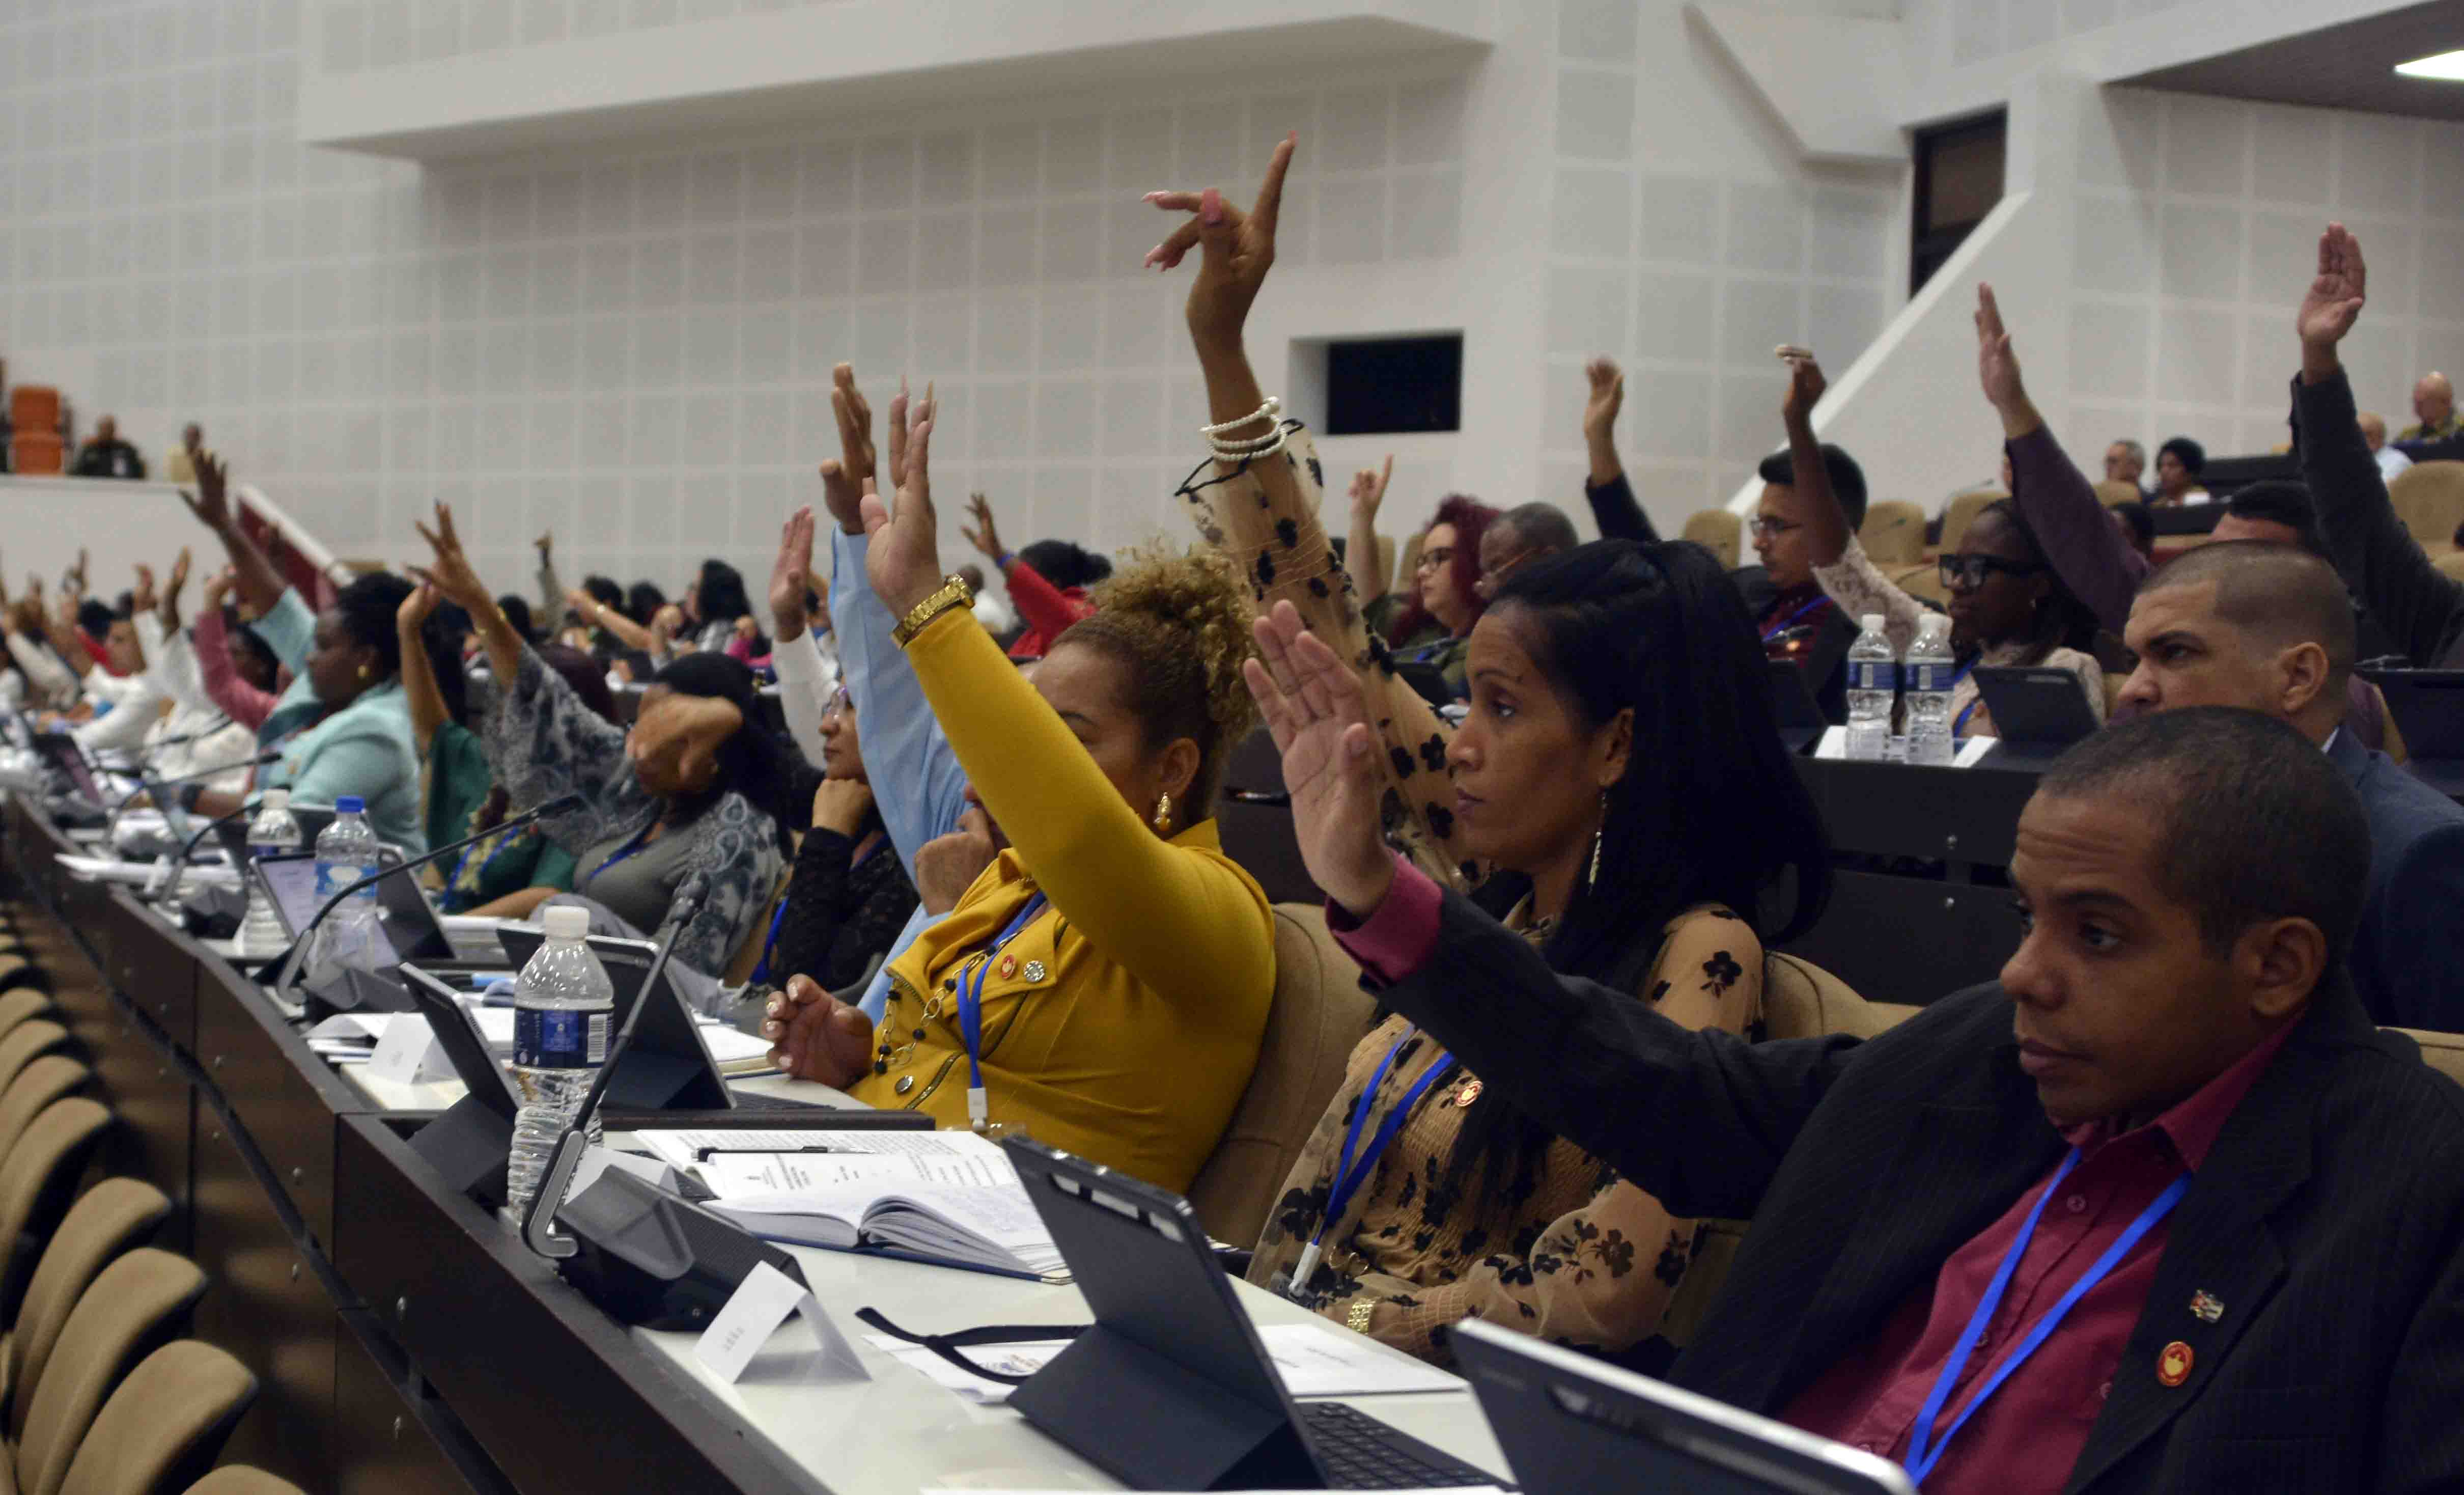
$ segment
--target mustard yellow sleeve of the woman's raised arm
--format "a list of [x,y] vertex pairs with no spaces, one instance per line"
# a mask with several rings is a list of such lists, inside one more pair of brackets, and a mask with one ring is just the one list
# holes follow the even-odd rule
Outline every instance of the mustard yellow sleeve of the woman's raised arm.
[[1165,995],[1266,988],[1274,926],[1257,889],[1148,830],[973,616],[944,613],[907,660],[968,783],[1079,933]]

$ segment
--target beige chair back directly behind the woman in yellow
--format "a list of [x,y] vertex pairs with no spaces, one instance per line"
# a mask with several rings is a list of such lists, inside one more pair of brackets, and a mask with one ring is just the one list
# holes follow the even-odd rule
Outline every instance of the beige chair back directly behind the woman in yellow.
[[1343,1064],[1368,1032],[1372,1010],[1360,990],[1360,968],[1326,931],[1326,911],[1276,904],[1274,1005],[1257,1069],[1215,1155],[1190,1180],[1190,1207],[1217,1241],[1257,1241],[1301,1143],[1343,1084]]

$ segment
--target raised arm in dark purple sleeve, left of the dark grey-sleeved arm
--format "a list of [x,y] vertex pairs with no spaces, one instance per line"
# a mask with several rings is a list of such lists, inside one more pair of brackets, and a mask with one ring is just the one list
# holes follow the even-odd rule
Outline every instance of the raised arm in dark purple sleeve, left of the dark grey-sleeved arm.
[[[2053,438],[2045,416],[2028,399],[2018,350],[2003,330],[1993,286],[1976,286],[1976,382],[1986,404],[2003,424],[2003,451],[2011,453],[2011,502],[2035,532],[2055,576],[2097,616],[2097,623],[2122,633],[2131,621],[2131,598],[2149,574],[2144,554],[2124,544],[2112,515],[2097,500],[2087,473]],[[2089,692],[2097,695],[2097,692]]]

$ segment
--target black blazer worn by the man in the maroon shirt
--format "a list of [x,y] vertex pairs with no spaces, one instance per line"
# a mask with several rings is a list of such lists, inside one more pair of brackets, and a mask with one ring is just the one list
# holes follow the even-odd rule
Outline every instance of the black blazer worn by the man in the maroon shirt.
[[[1752,1217],[1668,1379],[1777,1416],[2065,1145],[1996,985],[1870,1042],[1745,1044],[1562,980],[1446,894],[1385,1002],[1676,1214]],[[1510,1012],[1510,1022],[1501,1022]],[[2193,1293],[2225,1303],[2218,1323]],[[2190,1379],[2156,1379],[2161,1350]],[[2464,1089],[2338,978],[2225,1123],[2067,1490],[2464,1488]]]

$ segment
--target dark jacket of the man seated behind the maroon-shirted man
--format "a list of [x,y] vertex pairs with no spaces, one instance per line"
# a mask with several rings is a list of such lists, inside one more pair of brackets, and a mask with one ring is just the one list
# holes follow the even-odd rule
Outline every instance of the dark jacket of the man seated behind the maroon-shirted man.
[[2370,815],[2353,988],[2373,1022],[2464,1032],[2464,805],[2338,731],[2326,756]]

